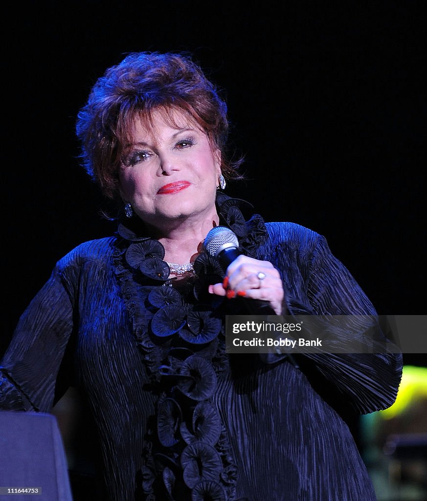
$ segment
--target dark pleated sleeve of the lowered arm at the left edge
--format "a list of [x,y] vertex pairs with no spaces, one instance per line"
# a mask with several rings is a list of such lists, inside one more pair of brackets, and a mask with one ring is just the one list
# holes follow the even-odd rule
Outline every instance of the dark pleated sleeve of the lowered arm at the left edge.
[[73,296],[61,266],[32,300],[0,365],[0,408],[50,412],[73,330]]

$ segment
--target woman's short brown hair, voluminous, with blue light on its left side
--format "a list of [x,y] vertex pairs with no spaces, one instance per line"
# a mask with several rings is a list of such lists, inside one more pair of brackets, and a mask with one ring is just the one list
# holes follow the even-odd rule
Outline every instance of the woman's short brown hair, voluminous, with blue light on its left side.
[[119,167],[130,142],[135,117],[151,120],[161,109],[174,108],[189,115],[206,133],[213,148],[221,151],[225,177],[240,177],[241,160],[227,160],[227,105],[198,65],[184,54],[131,53],[108,68],[93,86],[77,119],[83,165],[110,198],[119,194]]

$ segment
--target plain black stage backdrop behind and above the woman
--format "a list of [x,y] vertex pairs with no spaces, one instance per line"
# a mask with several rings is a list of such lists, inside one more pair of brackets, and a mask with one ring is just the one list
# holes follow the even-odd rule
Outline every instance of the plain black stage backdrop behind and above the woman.
[[[425,310],[421,3],[34,2],[5,18],[2,351],[55,262],[111,234],[75,117],[132,51],[189,51],[266,220],[326,236],[380,314]],[[314,4],[314,5],[313,5]],[[407,357],[407,362],[422,360]]]

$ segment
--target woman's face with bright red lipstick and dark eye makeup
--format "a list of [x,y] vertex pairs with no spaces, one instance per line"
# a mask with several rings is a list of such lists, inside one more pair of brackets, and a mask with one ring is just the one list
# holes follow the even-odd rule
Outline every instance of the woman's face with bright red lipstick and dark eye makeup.
[[119,179],[125,203],[154,227],[172,220],[212,218],[220,169],[220,153],[206,134],[180,110],[172,127],[160,111],[146,126],[135,120],[133,142]]

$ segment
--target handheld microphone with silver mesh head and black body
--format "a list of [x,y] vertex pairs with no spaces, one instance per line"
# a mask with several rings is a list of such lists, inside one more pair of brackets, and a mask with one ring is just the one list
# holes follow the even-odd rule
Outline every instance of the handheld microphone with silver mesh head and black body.
[[[216,226],[206,235],[203,243],[206,252],[215,258],[224,273],[231,263],[242,253],[239,250],[239,240],[231,229],[225,226]],[[275,315],[275,311],[268,301],[252,298],[241,298],[245,309],[251,315]]]

